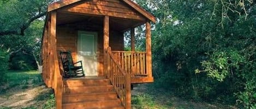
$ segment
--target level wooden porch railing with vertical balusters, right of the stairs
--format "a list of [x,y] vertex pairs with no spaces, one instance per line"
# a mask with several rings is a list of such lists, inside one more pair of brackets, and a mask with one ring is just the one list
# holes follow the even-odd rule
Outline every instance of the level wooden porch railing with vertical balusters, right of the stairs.
[[132,76],[147,76],[146,52],[112,51],[115,59]]

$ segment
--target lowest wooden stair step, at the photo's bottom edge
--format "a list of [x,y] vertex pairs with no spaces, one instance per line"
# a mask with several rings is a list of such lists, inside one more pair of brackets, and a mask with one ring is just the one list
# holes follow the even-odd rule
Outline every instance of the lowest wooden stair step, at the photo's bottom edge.
[[92,109],[92,108],[111,108],[122,106],[119,99],[103,100],[103,101],[81,101],[63,104],[62,107],[65,109]]

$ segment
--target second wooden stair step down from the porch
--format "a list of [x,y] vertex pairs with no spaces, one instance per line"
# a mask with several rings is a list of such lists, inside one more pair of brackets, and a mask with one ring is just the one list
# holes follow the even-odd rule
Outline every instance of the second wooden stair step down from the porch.
[[64,87],[64,94],[86,94],[86,93],[109,92],[109,91],[114,91],[114,88],[112,85]]

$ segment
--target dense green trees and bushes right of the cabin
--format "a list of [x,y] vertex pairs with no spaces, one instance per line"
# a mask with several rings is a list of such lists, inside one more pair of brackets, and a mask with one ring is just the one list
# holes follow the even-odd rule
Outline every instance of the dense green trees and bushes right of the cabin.
[[159,19],[152,31],[157,87],[255,107],[255,1],[136,2]]

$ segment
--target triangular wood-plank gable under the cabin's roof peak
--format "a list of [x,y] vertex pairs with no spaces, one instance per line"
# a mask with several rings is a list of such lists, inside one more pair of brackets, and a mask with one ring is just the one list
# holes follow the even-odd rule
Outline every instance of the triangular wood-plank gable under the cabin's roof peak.
[[61,11],[145,21],[145,17],[140,15],[136,10],[118,0],[83,1],[79,2],[79,4],[75,3],[67,8],[63,8]]

